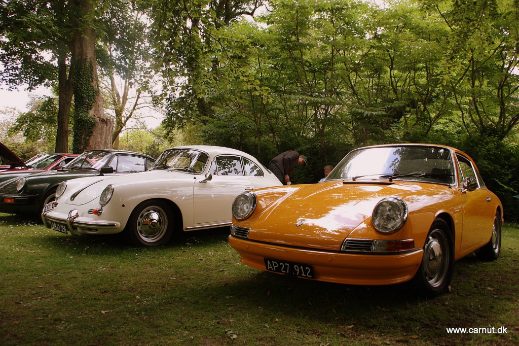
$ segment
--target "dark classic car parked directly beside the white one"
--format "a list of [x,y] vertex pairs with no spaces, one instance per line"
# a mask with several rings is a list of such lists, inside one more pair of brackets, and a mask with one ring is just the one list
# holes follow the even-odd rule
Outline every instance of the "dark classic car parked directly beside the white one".
[[[89,150],[58,170],[12,178],[0,183],[0,212],[40,215],[54,200],[62,181],[103,174],[140,172],[153,165],[149,155],[126,150]],[[109,168],[110,167],[110,168]]]

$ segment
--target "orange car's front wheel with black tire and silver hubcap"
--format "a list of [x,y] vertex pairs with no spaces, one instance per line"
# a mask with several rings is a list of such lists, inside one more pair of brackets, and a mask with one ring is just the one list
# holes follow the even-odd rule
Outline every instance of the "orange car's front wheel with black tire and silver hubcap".
[[454,241],[447,223],[436,219],[424,245],[424,256],[413,281],[421,294],[435,297],[449,288],[454,271]]

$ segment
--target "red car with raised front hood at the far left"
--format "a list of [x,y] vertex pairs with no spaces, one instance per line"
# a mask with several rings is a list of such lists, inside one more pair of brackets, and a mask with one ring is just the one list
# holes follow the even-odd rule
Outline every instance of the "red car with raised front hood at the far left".
[[15,153],[0,143],[0,182],[36,172],[59,169],[78,154],[38,154],[23,162]]

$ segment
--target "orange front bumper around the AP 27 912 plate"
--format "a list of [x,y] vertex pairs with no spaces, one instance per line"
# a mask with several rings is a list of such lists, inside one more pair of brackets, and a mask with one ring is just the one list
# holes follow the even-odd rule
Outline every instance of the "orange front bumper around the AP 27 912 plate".
[[258,243],[229,236],[229,245],[250,267],[267,270],[264,258],[309,264],[315,280],[349,285],[390,285],[411,280],[416,274],[423,250],[393,255],[352,254],[315,251]]

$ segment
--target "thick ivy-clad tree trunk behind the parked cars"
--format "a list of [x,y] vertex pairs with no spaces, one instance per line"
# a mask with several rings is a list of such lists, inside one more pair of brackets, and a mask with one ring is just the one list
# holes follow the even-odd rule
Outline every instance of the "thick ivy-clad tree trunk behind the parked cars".
[[90,0],[75,0],[75,4],[78,15],[72,21],[75,30],[71,59],[71,70],[74,71],[73,151],[110,149],[114,122],[104,116],[95,55],[97,37],[92,20],[87,20],[93,17],[93,6]]

